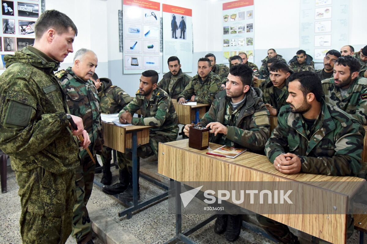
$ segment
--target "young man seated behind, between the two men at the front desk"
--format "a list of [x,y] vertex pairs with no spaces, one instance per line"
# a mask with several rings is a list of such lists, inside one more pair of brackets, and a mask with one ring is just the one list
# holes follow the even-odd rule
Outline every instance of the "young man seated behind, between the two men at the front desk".
[[268,108],[270,116],[277,116],[282,106],[287,105],[288,90],[286,79],[291,71],[286,62],[275,60],[269,68],[270,82],[264,86],[262,100]]

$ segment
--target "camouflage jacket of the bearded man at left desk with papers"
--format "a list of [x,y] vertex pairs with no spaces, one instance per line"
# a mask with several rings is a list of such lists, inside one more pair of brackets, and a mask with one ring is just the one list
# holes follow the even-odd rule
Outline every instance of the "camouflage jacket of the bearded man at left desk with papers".
[[158,88],[153,90],[149,101],[145,96],[136,94],[136,97],[126,105],[121,113],[128,110],[132,115],[140,109],[141,118],[132,118],[134,125],[150,125],[150,134],[164,135],[175,140],[178,135],[178,117],[170,96]]

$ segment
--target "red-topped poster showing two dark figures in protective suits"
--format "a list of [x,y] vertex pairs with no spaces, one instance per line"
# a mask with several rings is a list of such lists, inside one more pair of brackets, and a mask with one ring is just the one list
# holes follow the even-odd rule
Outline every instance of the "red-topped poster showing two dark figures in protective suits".
[[[168,4],[162,4],[162,9],[163,64],[177,56],[182,72],[192,72],[192,10]],[[163,65],[163,73],[169,71]]]

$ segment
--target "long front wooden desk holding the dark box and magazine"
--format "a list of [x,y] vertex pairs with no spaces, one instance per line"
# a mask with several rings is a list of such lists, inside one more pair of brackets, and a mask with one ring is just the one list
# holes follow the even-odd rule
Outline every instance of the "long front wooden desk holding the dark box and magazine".
[[[284,181],[308,185],[307,181],[332,181],[325,193],[348,197],[349,190],[338,189],[341,181],[363,182],[357,177],[324,176],[315,174],[283,174],[277,171],[266,156],[246,152],[237,158],[223,158],[206,154],[220,145],[209,143],[210,148],[196,150],[188,147],[188,139],[159,144],[158,173],[175,181]],[[172,160],[174,159],[174,160]],[[302,183],[300,182],[302,181]],[[309,186],[314,187],[311,183]],[[339,192],[337,192],[339,191]],[[356,189],[353,189],[353,193]],[[251,210],[251,209],[250,209]],[[256,212],[256,211],[255,211]],[[346,214],[264,214],[278,222],[330,241],[346,242]]]

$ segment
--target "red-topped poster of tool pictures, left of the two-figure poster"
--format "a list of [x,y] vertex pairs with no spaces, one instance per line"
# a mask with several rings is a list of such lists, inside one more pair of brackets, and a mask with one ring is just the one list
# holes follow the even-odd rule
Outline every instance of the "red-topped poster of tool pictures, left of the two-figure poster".
[[160,73],[160,3],[124,0],[123,4],[124,74]]

